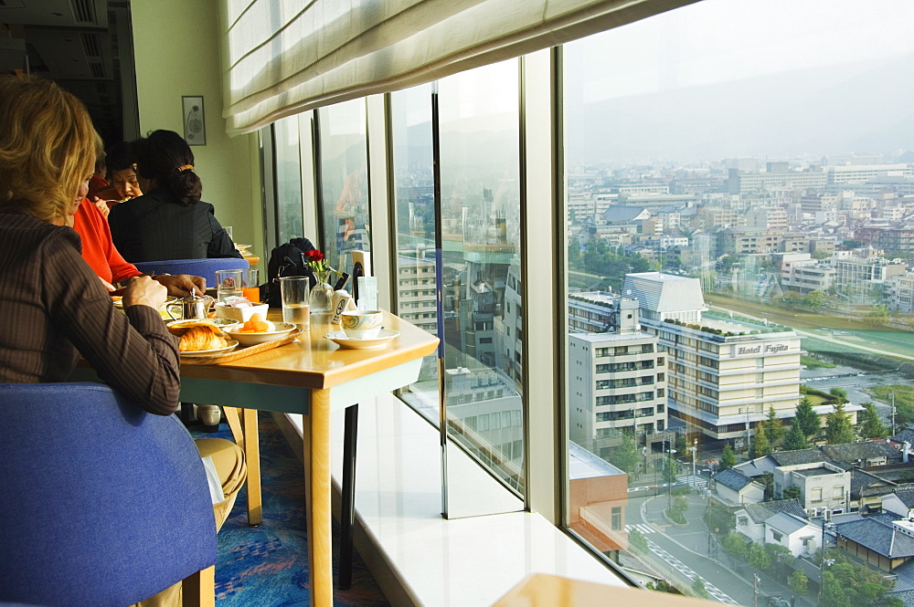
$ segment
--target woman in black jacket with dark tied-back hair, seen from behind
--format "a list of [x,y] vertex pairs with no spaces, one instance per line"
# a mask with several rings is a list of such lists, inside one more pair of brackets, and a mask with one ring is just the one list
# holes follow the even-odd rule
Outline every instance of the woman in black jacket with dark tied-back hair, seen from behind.
[[114,246],[127,261],[240,257],[214,215],[200,200],[194,154],[175,131],[154,131],[133,142],[142,196],[117,204],[108,217]]

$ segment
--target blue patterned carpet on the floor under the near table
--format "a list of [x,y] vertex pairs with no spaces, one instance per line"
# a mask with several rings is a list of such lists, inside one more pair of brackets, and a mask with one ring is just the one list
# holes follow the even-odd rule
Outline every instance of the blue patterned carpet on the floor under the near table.
[[[218,535],[216,604],[218,607],[285,607],[307,605],[308,557],[304,532],[302,465],[292,453],[270,413],[260,413],[260,473],[263,523],[248,527],[247,492],[238,500]],[[199,427],[199,426],[197,426]],[[195,437],[231,440],[228,425],[218,434],[197,432]],[[338,538],[334,521],[334,538]],[[334,543],[334,584],[339,555]],[[334,586],[334,604],[341,607],[388,607],[371,573],[356,554],[352,588]]]

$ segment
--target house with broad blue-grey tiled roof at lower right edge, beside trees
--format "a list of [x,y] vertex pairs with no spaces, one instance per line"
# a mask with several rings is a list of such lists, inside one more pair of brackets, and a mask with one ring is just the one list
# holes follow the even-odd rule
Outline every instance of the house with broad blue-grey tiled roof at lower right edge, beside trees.
[[914,558],[914,522],[883,517],[836,524],[838,549],[884,571]]

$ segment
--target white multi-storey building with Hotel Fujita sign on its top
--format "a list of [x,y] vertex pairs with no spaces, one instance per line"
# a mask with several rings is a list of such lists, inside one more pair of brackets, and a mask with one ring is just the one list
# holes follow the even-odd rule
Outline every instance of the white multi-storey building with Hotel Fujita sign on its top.
[[773,407],[792,418],[800,401],[800,337],[702,319],[696,278],[629,274],[623,291],[637,298],[645,330],[660,338],[669,369],[669,415],[715,439],[739,439]]

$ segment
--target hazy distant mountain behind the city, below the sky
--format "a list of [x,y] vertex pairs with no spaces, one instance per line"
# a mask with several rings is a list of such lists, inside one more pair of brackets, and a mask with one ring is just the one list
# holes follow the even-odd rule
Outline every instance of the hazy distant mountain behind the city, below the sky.
[[914,149],[912,73],[914,55],[579,106],[569,110],[569,162],[897,157]]

